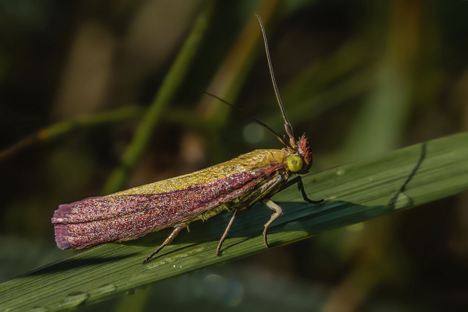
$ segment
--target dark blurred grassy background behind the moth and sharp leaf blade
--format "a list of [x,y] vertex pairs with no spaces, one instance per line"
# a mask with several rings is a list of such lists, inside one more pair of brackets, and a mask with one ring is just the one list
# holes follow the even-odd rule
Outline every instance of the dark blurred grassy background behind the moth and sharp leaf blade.
[[[60,203],[281,147],[202,93],[283,133],[254,11],[312,171],[468,131],[468,1],[0,1],[0,150],[13,146],[0,154],[0,282],[73,254],[54,242]],[[186,73],[123,166],[199,16]],[[467,280],[465,192],[80,310],[466,311]]]

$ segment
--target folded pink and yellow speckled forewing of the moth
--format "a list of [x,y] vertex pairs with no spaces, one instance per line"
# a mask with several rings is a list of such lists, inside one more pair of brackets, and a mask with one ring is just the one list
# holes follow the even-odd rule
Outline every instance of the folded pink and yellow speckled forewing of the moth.
[[135,239],[209,218],[230,205],[247,208],[287,179],[284,160],[281,150],[257,150],[191,174],[60,205],[52,218],[57,245],[83,248]]

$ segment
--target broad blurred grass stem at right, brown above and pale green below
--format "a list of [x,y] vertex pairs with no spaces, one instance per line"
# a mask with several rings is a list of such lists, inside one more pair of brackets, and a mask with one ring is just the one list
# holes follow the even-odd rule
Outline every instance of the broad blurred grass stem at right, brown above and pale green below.
[[343,159],[352,161],[398,147],[409,114],[419,52],[420,0],[391,3],[386,51],[376,84],[354,121]]

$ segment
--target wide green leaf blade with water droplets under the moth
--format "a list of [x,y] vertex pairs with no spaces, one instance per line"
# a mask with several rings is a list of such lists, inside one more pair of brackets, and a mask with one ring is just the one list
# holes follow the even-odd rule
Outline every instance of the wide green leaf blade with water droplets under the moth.
[[[417,166],[424,144],[424,159]],[[424,144],[304,176],[308,196],[325,199],[323,204],[304,203],[296,187],[273,196],[284,214],[269,229],[271,247],[468,189],[468,132]],[[395,204],[389,204],[392,198],[396,198]],[[0,311],[63,311],[265,251],[261,233],[270,214],[271,210],[262,204],[240,213],[219,257],[215,250],[229,214],[220,214],[205,223],[194,222],[190,233],[181,233],[145,265],[140,264],[142,259],[159,246],[170,229],[124,243],[89,248],[1,284]]]

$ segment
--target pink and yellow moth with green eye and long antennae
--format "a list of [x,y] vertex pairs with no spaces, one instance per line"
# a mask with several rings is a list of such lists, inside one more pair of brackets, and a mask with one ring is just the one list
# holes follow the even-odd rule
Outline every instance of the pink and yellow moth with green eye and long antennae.
[[[300,174],[306,174],[312,166],[312,150],[305,135],[298,139],[294,137],[292,126],[286,118],[271,66],[265,29],[260,16],[256,16],[262,29],[271,80],[289,140],[254,119],[272,131],[286,147],[256,150],[191,174],[59,205],[52,218],[59,248],[76,249],[105,242],[121,242],[174,227],[161,246],[141,262],[144,264],[190,222],[206,220],[229,210],[233,215],[219,240],[216,249],[219,255],[237,213],[259,201],[275,211],[263,231],[264,244],[268,248],[268,227],[283,214],[281,207],[270,199],[271,196],[297,183],[304,200],[314,204],[322,202],[309,199],[304,190]],[[293,177],[295,174],[299,175]]]

